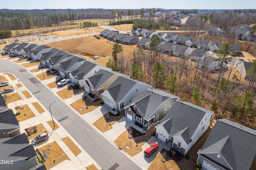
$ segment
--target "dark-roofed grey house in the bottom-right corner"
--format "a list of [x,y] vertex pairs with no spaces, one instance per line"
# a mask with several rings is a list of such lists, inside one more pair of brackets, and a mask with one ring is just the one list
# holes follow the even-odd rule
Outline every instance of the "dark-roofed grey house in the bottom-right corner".
[[198,154],[207,170],[254,170],[256,130],[227,119],[218,119]]

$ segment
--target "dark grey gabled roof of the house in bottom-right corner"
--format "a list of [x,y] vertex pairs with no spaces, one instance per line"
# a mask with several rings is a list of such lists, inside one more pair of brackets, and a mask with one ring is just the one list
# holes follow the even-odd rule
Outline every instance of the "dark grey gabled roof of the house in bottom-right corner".
[[218,119],[198,154],[220,153],[232,169],[250,169],[256,154],[255,141],[256,130]]

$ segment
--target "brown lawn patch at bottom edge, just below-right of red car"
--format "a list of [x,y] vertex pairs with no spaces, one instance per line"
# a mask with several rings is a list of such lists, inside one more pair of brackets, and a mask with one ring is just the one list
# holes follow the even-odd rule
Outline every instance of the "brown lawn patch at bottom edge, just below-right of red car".
[[156,158],[152,161],[148,170],[167,170],[172,167],[172,170],[180,170],[178,165],[174,160],[166,160],[166,162],[162,162],[161,159],[164,158],[161,153],[156,155]]

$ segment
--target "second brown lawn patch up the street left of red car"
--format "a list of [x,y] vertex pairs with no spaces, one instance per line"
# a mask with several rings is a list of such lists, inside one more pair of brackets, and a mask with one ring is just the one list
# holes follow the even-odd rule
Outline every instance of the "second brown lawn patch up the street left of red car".
[[[110,120],[107,121],[106,114],[102,116],[100,119],[95,121],[93,125],[98,128],[101,132],[105,132],[106,130],[112,129],[112,125],[122,119],[124,117],[124,111],[120,112],[120,116],[110,116]],[[109,125],[110,124],[110,125]]]

